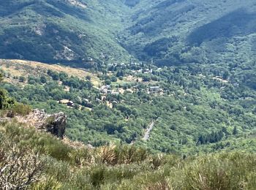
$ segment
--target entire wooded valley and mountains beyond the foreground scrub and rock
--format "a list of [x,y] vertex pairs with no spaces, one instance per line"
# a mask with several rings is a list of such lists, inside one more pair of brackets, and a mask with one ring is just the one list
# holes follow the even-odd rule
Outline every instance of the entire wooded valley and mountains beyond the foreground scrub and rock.
[[0,57],[9,58],[0,61],[3,88],[18,102],[64,111],[67,136],[94,146],[229,148],[255,133],[254,7],[238,0],[9,1],[0,5]]

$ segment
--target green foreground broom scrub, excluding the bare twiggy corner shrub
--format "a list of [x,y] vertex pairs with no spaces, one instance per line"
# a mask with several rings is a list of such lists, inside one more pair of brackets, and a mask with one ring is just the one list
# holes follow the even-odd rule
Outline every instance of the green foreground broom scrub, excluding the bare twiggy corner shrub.
[[[30,184],[31,189],[203,190],[255,189],[256,185],[255,153],[226,152],[181,158],[151,154],[135,146],[73,147],[18,123],[1,125],[0,134],[1,147],[10,141],[17,150],[39,151],[37,156],[45,165],[42,174]],[[59,147],[61,156],[53,153],[53,145]],[[113,154],[115,163],[105,162]]]

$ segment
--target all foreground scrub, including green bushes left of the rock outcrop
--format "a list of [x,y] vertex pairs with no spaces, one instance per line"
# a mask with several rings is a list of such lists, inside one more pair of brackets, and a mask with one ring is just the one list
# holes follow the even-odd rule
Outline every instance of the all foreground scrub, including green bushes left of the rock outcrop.
[[[0,74],[0,82],[4,79]],[[0,88],[0,113],[17,104]],[[151,154],[134,145],[86,148],[18,121],[0,122],[1,189],[254,189],[255,154]],[[246,161],[244,161],[246,159]]]

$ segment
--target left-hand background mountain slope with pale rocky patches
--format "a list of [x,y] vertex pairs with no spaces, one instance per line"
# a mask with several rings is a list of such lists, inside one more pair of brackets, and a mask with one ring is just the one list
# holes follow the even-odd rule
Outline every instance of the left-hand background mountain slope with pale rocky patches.
[[[77,63],[127,59],[116,40],[121,27],[118,1],[3,1],[1,58]],[[111,9],[111,11],[110,11]]]

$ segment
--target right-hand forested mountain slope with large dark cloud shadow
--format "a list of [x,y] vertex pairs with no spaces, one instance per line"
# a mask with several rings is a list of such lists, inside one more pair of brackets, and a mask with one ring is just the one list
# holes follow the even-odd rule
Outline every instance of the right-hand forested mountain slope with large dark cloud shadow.
[[121,38],[142,60],[154,58],[160,65],[253,61],[254,1],[145,0],[132,11]]

